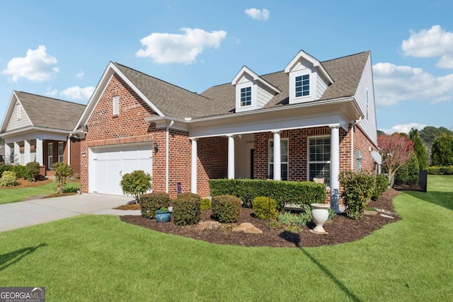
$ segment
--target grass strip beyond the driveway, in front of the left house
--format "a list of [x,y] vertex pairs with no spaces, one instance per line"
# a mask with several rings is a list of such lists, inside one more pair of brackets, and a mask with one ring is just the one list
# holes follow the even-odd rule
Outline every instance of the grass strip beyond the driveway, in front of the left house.
[[[79,182],[67,182],[67,187],[80,187]],[[0,204],[8,204],[10,202],[21,202],[27,197],[42,194],[52,194],[57,192],[56,182],[50,182],[47,185],[39,187],[21,187],[18,189],[0,189]]]

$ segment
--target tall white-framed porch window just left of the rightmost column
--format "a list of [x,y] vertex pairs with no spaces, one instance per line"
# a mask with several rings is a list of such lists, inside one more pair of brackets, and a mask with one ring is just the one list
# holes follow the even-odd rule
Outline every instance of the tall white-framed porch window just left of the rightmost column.
[[309,180],[324,178],[331,184],[331,138],[312,137],[309,139]]

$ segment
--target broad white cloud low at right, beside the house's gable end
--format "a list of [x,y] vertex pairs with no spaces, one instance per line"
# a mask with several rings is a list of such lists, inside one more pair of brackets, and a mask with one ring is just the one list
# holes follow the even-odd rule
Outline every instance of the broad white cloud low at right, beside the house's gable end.
[[433,76],[420,68],[391,63],[373,65],[377,105],[394,105],[403,100],[440,103],[453,98],[453,74]]

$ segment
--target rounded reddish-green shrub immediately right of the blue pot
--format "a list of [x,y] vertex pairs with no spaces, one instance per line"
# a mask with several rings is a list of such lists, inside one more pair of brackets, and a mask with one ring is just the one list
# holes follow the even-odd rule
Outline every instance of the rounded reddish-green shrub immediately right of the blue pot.
[[173,221],[177,226],[192,225],[200,221],[200,196],[182,193],[173,200]]

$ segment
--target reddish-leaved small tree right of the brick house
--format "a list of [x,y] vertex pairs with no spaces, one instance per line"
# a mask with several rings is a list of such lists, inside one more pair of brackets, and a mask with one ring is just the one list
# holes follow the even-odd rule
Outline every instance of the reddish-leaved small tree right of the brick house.
[[401,165],[412,157],[413,142],[406,135],[394,133],[379,135],[377,144],[381,149],[382,166],[389,173],[390,182]]

